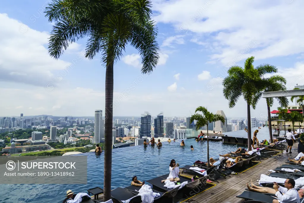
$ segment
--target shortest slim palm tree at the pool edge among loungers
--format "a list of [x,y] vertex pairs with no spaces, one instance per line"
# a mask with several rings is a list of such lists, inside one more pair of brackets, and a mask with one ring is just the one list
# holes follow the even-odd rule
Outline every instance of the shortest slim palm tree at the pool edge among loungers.
[[[202,114],[196,113],[196,112],[202,112]],[[192,123],[194,120],[196,120],[196,130],[199,130],[203,126],[207,126],[207,163],[208,168],[210,167],[210,161],[209,161],[209,135],[208,135],[208,123],[221,121],[222,123],[225,123],[225,118],[222,115],[219,114],[213,114],[207,110],[207,108],[199,106],[195,109],[195,114],[191,116],[190,123]]]

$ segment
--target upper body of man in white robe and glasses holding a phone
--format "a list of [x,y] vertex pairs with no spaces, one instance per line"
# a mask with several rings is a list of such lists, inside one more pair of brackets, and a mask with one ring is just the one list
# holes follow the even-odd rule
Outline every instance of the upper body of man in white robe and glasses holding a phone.
[[[278,199],[274,199],[272,203],[300,203],[300,197],[298,191],[295,187],[295,180],[286,179],[284,182],[284,187],[278,185],[274,182],[273,189],[275,189],[275,196]],[[282,194],[284,193],[284,195]]]

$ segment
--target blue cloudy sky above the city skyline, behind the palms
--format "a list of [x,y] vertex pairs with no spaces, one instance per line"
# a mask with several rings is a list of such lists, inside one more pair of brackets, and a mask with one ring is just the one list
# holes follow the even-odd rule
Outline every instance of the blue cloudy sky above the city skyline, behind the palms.
[[[86,40],[58,59],[48,54],[54,25],[44,16],[50,0],[0,2],[0,116],[93,116],[105,109],[105,67],[84,57]],[[303,1],[153,0],[160,59],[149,75],[128,46],[114,65],[114,116],[190,116],[198,106],[227,117],[247,117],[243,98],[229,108],[223,78],[229,67],[268,63],[304,85]],[[132,88],[131,88],[132,87]],[[292,104],[290,102],[290,104]],[[294,103],[293,103],[294,104]],[[278,102],[271,107],[276,109]],[[266,119],[262,98],[251,116]]]

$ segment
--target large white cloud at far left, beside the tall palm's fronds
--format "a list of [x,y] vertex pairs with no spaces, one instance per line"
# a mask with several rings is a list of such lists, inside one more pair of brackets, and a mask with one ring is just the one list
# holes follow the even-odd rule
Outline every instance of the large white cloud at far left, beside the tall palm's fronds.
[[[0,14],[0,81],[44,86],[53,72],[69,62],[50,57],[46,32],[36,31],[7,14]],[[77,43],[72,44],[71,50]]]

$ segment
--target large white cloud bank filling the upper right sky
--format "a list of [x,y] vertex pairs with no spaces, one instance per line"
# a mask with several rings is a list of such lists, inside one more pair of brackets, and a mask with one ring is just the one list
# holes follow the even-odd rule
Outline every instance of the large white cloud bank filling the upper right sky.
[[[212,51],[211,60],[224,65],[249,56],[258,60],[304,53],[304,27],[299,26],[304,20],[303,8],[301,1],[262,0],[236,4],[225,0],[208,4],[202,0],[156,1],[153,7],[158,23],[168,23],[176,30],[186,25],[187,34],[194,35],[191,41]],[[244,11],[250,15],[240,18]],[[166,44],[172,41],[169,38]]]

